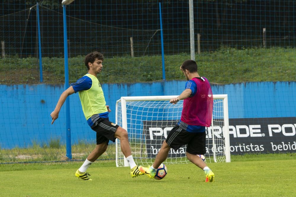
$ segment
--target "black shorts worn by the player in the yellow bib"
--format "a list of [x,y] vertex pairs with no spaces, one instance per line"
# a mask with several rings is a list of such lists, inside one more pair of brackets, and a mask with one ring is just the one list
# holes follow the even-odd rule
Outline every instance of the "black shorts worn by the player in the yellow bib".
[[96,131],[96,144],[102,144],[109,140],[115,142],[114,133],[119,126],[109,121],[109,118],[99,118],[91,129]]

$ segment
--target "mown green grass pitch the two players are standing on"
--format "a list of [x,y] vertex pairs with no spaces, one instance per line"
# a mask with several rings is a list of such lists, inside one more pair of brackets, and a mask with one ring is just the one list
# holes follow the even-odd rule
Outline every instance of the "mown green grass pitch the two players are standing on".
[[97,161],[88,169],[93,181],[75,178],[82,162],[2,164],[0,196],[295,196],[296,154],[237,156],[210,163],[215,182],[205,183],[193,164],[167,165],[163,180],[131,178],[129,167]]

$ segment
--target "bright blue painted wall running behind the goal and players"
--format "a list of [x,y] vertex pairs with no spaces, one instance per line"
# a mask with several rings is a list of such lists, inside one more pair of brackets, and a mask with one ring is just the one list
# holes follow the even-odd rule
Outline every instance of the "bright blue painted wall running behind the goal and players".
[[[121,96],[179,95],[184,87],[185,81],[102,85],[114,122],[115,103]],[[229,118],[296,116],[296,82],[212,84],[212,90],[213,94],[228,94]],[[65,106],[50,124],[50,113],[63,91],[63,85],[0,85],[0,147],[25,147],[57,138],[65,143]],[[70,96],[70,113],[72,143],[94,141],[78,94]]]

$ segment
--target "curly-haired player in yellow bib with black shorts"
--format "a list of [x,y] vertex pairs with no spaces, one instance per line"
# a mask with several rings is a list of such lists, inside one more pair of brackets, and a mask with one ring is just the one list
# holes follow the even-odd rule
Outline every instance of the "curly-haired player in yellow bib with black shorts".
[[122,127],[109,121],[108,115],[111,110],[109,106],[106,105],[101,84],[96,78],[97,74],[102,71],[103,61],[103,54],[97,51],[86,55],[85,66],[88,69],[88,73],[75,83],[72,83],[71,86],[62,93],[56,108],[50,114],[52,124],[58,118],[59,111],[66,98],[78,92],[87,123],[92,130],[96,131],[96,147],[86,158],[82,166],[75,172],[75,176],[83,180],[92,180],[88,177],[89,173],[86,173],[87,168],[107,150],[109,140],[115,142],[115,139],[118,138],[120,139],[123,155],[126,157],[131,167],[131,177],[134,178],[143,175],[143,173],[139,171],[138,166],[133,160],[131,148],[128,143],[128,133]]

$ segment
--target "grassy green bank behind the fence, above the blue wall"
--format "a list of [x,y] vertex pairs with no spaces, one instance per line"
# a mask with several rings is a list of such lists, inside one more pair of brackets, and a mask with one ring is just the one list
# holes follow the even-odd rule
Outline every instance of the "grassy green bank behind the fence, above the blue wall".
[[[246,48],[238,50],[222,46],[220,50],[195,55],[198,72],[210,82],[296,81],[295,48]],[[185,80],[179,67],[190,54],[165,56],[166,80]],[[87,73],[84,57],[69,58],[69,81],[75,82]],[[64,59],[42,58],[43,82],[63,84]],[[11,77],[16,75],[17,77]],[[37,58],[0,59],[0,84],[40,83]],[[152,82],[163,79],[161,56],[105,58],[101,83]]]

